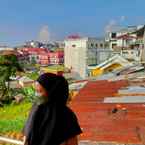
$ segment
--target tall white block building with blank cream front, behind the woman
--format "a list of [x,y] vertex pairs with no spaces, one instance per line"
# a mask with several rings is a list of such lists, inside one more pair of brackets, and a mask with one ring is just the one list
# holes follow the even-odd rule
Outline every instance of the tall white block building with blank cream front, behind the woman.
[[96,38],[68,38],[64,41],[64,64],[81,78],[88,76],[88,65],[97,64],[97,49],[105,48],[105,41]]

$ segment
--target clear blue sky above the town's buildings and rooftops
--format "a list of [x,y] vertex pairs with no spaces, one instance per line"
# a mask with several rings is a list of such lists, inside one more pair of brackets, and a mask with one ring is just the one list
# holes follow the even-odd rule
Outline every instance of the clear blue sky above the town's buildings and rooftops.
[[50,40],[71,34],[102,37],[115,25],[145,23],[145,0],[1,0],[0,45],[39,40],[47,28]]

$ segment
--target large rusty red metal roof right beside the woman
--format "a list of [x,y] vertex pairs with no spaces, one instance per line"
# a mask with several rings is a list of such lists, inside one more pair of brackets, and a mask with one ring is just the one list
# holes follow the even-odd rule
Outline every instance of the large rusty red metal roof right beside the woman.
[[[127,81],[88,82],[70,103],[83,128],[81,140],[141,143],[145,138],[144,104],[105,104],[103,98],[113,96],[126,87]],[[117,113],[112,110],[119,106]]]

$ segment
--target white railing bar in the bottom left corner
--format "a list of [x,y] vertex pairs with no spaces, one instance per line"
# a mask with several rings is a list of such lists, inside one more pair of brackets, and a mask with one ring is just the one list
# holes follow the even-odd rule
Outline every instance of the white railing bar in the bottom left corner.
[[10,143],[10,144],[15,144],[15,145],[23,145],[22,141],[10,139],[10,138],[6,138],[6,137],[1,137],[1,136],[0,136],[0,142],[6,142],[6,143]]

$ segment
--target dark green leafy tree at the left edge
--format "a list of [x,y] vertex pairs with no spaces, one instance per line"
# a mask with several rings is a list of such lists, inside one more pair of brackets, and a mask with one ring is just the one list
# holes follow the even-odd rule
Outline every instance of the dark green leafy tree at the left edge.
[[17,71],[23,70],[16,55],[0,55],[0,102],[11,98],[10,77],[16,76]]

